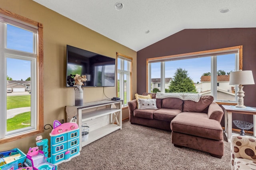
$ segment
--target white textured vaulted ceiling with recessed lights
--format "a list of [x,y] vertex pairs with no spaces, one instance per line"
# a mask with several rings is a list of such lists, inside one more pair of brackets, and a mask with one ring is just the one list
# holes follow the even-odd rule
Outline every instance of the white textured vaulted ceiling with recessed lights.
[[256,28],[256,0],[34,1],[134,51],[184,29]]

